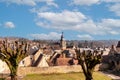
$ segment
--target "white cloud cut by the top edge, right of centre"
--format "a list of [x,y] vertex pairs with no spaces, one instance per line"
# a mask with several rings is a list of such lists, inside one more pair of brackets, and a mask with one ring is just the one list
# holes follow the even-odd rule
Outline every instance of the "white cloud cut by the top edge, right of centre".
[[71,4],[90,6],[92,4],[98,4],[99,2],[100,0],[72,0]]

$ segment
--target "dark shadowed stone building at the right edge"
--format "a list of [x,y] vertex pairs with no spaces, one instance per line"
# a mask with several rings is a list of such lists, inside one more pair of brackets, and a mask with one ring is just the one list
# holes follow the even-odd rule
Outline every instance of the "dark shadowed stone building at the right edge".
[[103,63],[108,65],[107,70],[120,71],[120,41],[117,46],[111,46],[108,55],[103,56]]

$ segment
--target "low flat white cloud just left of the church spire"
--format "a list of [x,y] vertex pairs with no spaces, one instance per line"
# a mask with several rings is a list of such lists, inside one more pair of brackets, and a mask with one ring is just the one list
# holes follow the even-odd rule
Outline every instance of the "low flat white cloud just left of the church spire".
[[58,34],[56,32],[50,32],[49,34],[31,34],[31,37],[34,39],[42,39],[42,40],[57,40],[60,39],[61,34]]

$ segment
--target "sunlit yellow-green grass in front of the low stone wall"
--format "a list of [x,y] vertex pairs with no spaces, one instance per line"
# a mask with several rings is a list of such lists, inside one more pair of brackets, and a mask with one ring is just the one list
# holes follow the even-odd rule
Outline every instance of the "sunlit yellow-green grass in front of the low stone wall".
[[[112,80],[100,72],[93,73],[94,80]],[[67,74],[31,74],[24,77],[23,80],[85,80],[83,73]]]

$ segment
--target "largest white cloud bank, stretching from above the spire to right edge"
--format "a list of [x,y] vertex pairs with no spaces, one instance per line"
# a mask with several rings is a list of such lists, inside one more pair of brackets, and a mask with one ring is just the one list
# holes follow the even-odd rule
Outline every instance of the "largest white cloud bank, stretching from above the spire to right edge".
[[94,22],[76,11],[38,12],[36,24],[48,29],[74,30],[91,35],[118,35],[120,32],[120,19],[102,19]]

